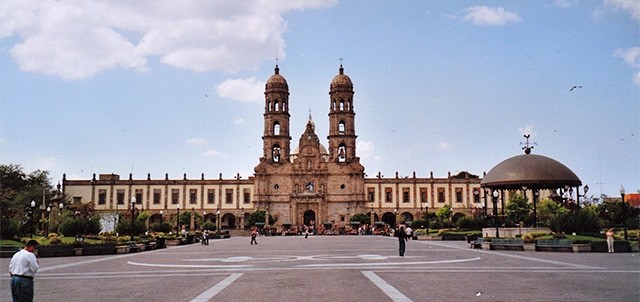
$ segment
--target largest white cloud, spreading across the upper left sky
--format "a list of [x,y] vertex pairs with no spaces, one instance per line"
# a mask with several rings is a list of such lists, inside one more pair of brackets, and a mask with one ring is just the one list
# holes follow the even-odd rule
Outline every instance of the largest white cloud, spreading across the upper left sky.
[[148,60],[193,71],[254,70],[284,58],[283,15],[335,1],[73,1],[0,3],[0,39],[20,68],[66,80]]

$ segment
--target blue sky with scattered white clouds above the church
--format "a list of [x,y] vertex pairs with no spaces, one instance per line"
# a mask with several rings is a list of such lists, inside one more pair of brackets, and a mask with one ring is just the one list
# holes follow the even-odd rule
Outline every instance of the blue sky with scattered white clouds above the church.
[[640,190],[639,0],[2,1],[0,163],[246,179],[276,64],[292,149],[309,115],[327,146],[342,64],[367,177],[482,176],[530,135],[588,195]]

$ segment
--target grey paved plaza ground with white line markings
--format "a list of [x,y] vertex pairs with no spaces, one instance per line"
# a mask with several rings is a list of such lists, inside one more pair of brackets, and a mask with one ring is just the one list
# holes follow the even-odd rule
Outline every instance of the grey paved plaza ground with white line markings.
[[[380,236],[249,237],[42,258],[35,301],[639,301],[638,253],[472,250]],[[11,301],[9,259],[0,301]]]

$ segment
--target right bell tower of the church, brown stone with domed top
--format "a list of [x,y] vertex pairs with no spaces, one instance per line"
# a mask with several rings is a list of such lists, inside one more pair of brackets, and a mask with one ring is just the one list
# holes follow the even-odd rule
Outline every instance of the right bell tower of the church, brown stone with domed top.
[[329,155],[332,162],[351,163],[356,158],[356,129],[353,83],[340,64],[329,88]]

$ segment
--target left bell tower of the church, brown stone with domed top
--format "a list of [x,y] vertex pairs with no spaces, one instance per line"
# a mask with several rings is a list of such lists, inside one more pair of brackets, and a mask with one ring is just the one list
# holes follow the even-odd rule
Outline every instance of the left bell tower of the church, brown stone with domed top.
[[276,65],[265,85],[263,159],[268,163],[288,162],[291,155],[289,133],[289,85]]

